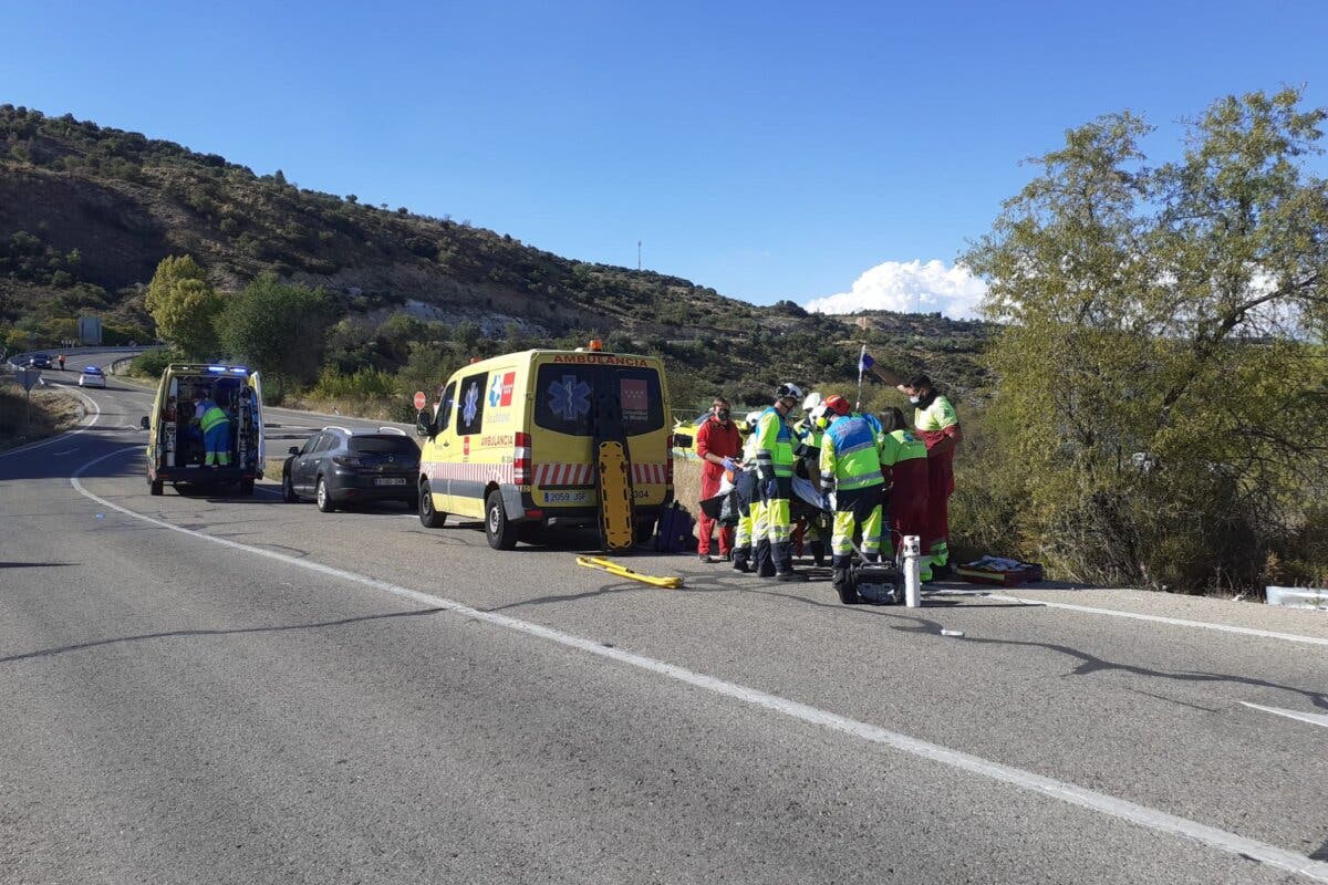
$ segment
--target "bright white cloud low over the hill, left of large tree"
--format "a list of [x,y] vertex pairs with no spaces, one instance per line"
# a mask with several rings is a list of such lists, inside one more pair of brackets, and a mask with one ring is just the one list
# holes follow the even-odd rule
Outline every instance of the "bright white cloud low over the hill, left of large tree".
[[977,316],[977,304],[987,295],[987,284],[960,265],[944,261],[886,261],[865,271],[853,289],[813,299],[807,310],[819,313],[854,313],[855,310],[898,310],[900,313],[934,313],[952,320]]

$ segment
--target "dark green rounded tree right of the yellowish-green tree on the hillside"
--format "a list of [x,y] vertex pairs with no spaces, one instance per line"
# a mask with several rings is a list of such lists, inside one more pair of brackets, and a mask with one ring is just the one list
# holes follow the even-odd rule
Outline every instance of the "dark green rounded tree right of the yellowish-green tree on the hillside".
[[327,330],[337,314],[323,289],[263,273],[230,299],[216,329],[226,352],[272,375],[280,395],[287,382],[319,377]]

